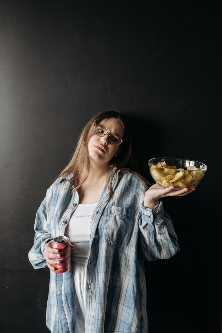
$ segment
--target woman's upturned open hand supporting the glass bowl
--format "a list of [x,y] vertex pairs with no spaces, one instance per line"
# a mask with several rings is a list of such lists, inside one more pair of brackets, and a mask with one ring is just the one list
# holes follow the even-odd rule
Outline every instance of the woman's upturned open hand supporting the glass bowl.
[[158,183],[156,183],[150,186],[150,188],[146,191],[144,196],[144,206],[147,208],[153,208],[156,205],[159,205],[159,200],[165,196],[184,196],[193,191],[195,191],[195,187],[189,189],[174,189],[173,186],[169,186],[167,188],[164,188]]

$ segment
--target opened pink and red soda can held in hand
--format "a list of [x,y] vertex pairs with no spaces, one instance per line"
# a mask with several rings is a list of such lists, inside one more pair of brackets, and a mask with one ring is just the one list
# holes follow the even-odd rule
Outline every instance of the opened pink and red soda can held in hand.
[[[71,266],[71,243],[68,237],[58,236],[53,239],[52,247],[59,250],[61,254],[60,263],[53,265],[55,267],[55,273],[68,272]],[[58,260],[53,258],[53,260]]]

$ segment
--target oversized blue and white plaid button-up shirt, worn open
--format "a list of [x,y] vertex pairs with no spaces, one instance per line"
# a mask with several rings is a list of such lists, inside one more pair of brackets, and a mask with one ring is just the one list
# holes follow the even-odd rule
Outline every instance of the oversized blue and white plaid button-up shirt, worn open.
[[[29,252],[35,269],[47,267],[45,242],[64,235],[78,205],[77,191],[67,192],[69,181],[68,177],[56,180],[37,211],[35,242]],[[119,171],[113,190],[107,201],[104,187],[91,218],[85,331],[146,333],[144,259],[172,257],[179,250],[177,236],[162,202],[154,208],[143,206],[145,187],[136,175]],[[50,270],[47,327],[53,333],[77,332],[71,274],[72,269],[61,274]]]

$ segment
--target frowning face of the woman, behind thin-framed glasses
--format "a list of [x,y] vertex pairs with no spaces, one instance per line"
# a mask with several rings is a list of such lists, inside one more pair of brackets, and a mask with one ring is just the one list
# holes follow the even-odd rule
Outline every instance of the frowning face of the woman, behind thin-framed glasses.
[[[115,118],[105,118],[100,123],[108,133],[116,134],[120,138],[123,138],[123,126],[121,122]],[[108,141],[109,134],[104,137],[98,137],[96,134],[92,134],[88,142],[88,153],[91,162],[94,162],[100,166],[108,166],[112,158],[118,154],[119,146],[113,146]]]

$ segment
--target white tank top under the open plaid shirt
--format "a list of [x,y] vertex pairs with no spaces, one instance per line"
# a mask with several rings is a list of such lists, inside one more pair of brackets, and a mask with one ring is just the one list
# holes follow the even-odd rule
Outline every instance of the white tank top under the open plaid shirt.
[[79,204],[65,229],[65,236],[75,245],[72,251],[75,257],[88,258],[89,256],[90,221],[97,204]]

